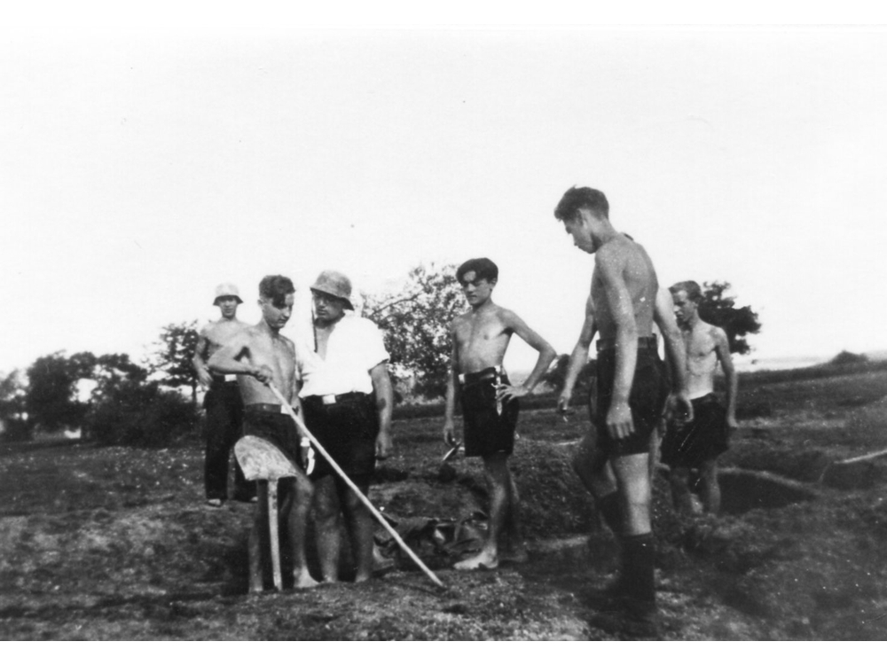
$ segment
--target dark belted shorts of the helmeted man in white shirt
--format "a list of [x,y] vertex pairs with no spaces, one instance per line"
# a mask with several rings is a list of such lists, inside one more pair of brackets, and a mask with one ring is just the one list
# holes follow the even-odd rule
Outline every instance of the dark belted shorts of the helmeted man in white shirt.
[[[323,403],[321,397],[304,397],[302,410],[305,426],[351,480],[373,473],[379,434],[379,413],[373,395],[337,395],[334,404]],[[311,478],[330,474],[335,474],[333,467],[316,453]]]

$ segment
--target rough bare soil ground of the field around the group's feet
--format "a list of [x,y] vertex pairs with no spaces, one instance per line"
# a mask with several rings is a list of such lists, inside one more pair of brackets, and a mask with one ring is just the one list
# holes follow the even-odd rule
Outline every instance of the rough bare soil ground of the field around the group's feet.
[[[522,414],[512,465],[530,561],[456,573],[452,548],[417,528],[410,542],[445,590],[398,559],[365,584],[247,596],[254,507],[204,505],[196,441],[2,444],[0,638],[887,639],[887,460],[841,489],[818,482],[831,461],[887,448],[887,372],[748,383],[722,458],[725,513],[678,518],[657,481],[655,630],[600,602],[617,550],[569,470],[584,414],[538,410]],[[483,509],[477,461],[442,472],[441,427],[396,420],[370,496],[402,523]]]

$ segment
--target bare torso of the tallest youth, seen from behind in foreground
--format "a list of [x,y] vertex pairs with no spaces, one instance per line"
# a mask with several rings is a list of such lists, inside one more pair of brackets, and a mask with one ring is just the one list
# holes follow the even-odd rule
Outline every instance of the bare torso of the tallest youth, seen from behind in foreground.
[[[608,253],[607,258],[618,262],[621,268],[620,272],[631,299],[638,337],[648,337],[653,333],[653,309],[656,291],[659,289],[653,262],[650,261],[647,251],[642,246],[623,235],[600,247],[597,253],[599,261],[604,253]],[[597,265],[595,265],[592,275],[592,302],[590,304],[594,312],[595,325],[600,332],[600,339],[615,339],[616,317],[611,310],[606,286]]]

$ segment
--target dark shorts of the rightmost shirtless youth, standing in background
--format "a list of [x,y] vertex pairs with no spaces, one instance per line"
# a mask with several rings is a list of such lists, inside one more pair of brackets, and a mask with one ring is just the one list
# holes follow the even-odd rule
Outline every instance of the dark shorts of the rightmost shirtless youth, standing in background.
[[712,393],[693,403],[693,420],[686,425],[670,422],[662,446],[662,462],[671,467],[699,468],[726,452],[729,430],[726,409]]

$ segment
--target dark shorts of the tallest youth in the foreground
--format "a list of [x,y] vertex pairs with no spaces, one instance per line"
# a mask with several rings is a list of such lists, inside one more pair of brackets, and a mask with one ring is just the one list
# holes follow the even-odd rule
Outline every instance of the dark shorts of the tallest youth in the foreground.
[[638,361],[634,367],[632,392],[628,405],[632,409],[634,434],[625,439],[613,439],[607,431],[607,412],[613,397],[616,379],[616,349],[598,351],[597,360],[597,418],[594,426],[598,433],[600,451],[608,458],[637,455],[650,451],[652,434],[668,398],[668,381],[665,364],[652,347],[639,346]]

